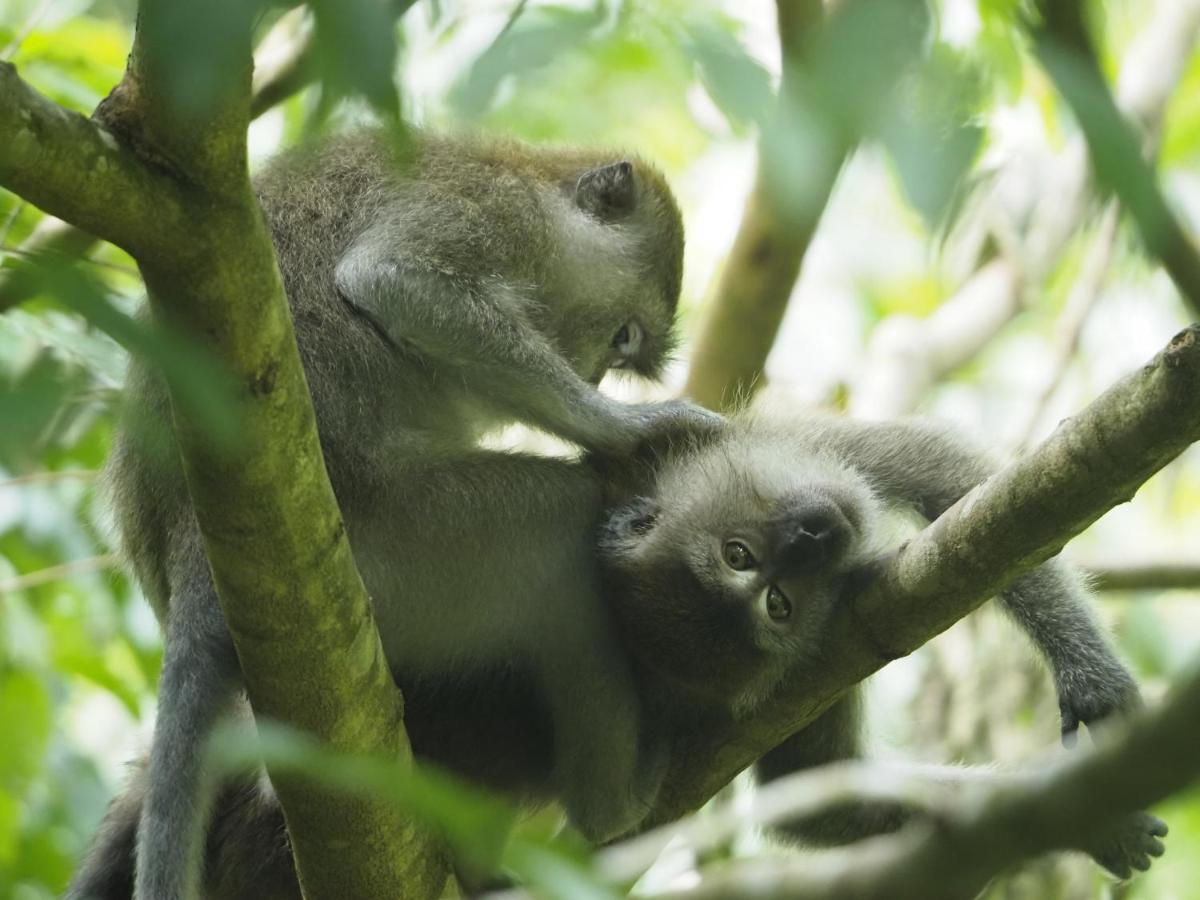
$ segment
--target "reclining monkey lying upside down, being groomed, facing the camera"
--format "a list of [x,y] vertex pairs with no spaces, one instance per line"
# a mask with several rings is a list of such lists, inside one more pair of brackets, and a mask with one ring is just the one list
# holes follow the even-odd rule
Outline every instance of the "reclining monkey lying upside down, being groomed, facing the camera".
[[[743,414],[617,457],[474,450],[406,467],[370,486],[350,541],[406,698],[414,754],[539,802],[562,797],[569,786],[556,781],[557,721],[532,670],[506,656],[478,677],[442,679],[406,652],[415,638],[394,631],[470,628],[455,604],[467,616],[480,614],[480,626],[506,628],[503,616],[485,622],[482,613],[520,602],[522,626],[553,643],[565,617],[602,610],[610,622],[593,640],[612,644],[605,650],[610,660],[625,658],[617,671],[632,671],[641,752],[670,758],[672,751],[686,754],[686,736],[707,716],[752,715],[797,665],[821,659],[838,602],[886,550],[878,523],[887,506],[936,517],[994,463],[956,434],[919,421]],[[426,552],[397,552],[418,539]],[[487,592],[496,599],[480,596]],[[434,625],[414,616],[404,599],[414,596],[424,598],[428,616],[448,620]],[[1048,659],[1068,732],[1136,708],[1136,685],[1064,563],[1042,564],[1000,600]],[[578,702],[604,715],[611,674],[566,674]],[[768,752],[757,764],[760,776],[769,781],[859,756],[859,715],[851,691]],[[595,752],[613,752],[613,742],[605,732]],[[947,780],[958,772],[947,769]],[[635,788],[647,805],[660,780],[655,773]],[[114,802],[71,898],[128,895],[121,886],[144,792],[139,775]],[[299,895],[269,791],[235,780],[215,815],[206,896]],[[914,815],[864,804],[786,830],[809,842],[846,842],[894,830]],[[1162,822],[1138,814],[1087,850],[1124,877],[1163,852],[1164,834]]]

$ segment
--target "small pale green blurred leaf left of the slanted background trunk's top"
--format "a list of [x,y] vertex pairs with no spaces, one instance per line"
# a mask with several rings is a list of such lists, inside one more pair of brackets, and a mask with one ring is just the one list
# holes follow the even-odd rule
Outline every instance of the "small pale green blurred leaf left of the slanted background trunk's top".
[[727,30],[707,22],[685,29],[685,47],[713,102],[732,125],[761,126],[774,104],[767,70]]

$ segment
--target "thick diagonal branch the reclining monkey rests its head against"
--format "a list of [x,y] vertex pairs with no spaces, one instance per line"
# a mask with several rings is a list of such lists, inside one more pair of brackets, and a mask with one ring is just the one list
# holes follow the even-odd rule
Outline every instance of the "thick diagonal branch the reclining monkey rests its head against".
[[839,608],[818,664],[792,673],[752,720],[709,722],[682,739],[649,824],[697,809],[847,688],[1057,553],[1196,439],[1200,328],[1190,328],[907,544]]

